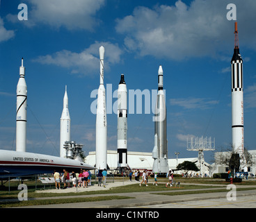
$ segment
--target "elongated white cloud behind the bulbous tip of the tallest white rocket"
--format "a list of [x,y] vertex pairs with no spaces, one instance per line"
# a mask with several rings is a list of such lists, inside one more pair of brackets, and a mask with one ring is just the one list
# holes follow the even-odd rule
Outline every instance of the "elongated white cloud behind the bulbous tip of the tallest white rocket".
[[110,42],[95,42],[80,53],[67,50],[57,51],[51,55],[39,56],[33,61],[68,68],[72,74],[89,75],[92,74],[92,71],[95,72],[99,69],[99,46],[105,48],[105,69],[109,69],[110,65],[120,62],[122,51],[117,44]]

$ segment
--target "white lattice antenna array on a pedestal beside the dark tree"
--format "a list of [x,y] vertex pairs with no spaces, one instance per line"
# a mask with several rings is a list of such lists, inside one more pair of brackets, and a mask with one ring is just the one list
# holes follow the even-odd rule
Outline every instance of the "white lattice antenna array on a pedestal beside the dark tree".
[[204,151],[215,150],[215,138],[211,137],[191,137],[186,139],[187,151],[198,151],[198,162],[200,163],[200,175],[203,176],[202,165],[205,162]]

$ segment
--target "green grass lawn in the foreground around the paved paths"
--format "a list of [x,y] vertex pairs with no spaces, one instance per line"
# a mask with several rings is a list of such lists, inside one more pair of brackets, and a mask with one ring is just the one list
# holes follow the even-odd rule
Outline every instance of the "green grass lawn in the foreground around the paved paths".
[[[45,200],[29,200],[29,201],[15,201],[15,203],[12,201],[17,200],[17,195],[19,194],[20,190],[11,189],[10,191],[0,191],[0,200],[3,199],[10,199],[6,200],[5,203],[0,203],[0,207],[17,207],[17,206],[27,206],[27,205],[49,205],[49,204],[56,204],[56,203],[81,203],[81,202],[87,202],[87,201],[99,201],[99,200],[113,200],[113,199],[120,199],[120,198],[128,198],[125,196],[117,196],[115,194],[120,193],[131,193],[131,192],[145,192],[149,191],[155,194],[156,191],[166,191],[161,192],[163,195],[182,195],[182,194],[198,194],[198,193],[205,193],[205,192],[215,192],[215,191],[227,191],[226,185],[228,185],[228,182],[225,182],[223,179],[211,179],[211,178],[175,178],[176,181],[180,182],[180,187],[166,187],[165,182],[166,178],[159,178],[159,186],[153,186],[151,179],[148,183],[148,187],[145,187],[145,185],[142,185],[142,187],[139,187],[138,182],[132,183],[131,185],[125,185],[120,187],[113,187],[109,190],[102,190],[102,191],[84,191],[84,192],[72,192],[72,193],[64,193],[64,194],[53,194],[53,193],[37,193],[35,192],[35,189],[33,185],[28,184],[28,198],[40,198],[40,197],[49,197]],[[119,179],[122,181],[123,179]],[[127,178],[125,178],[127,180]],[[118,181],[115,180],[115,181]],[[195,183],[196,185],[189,185],[189,183]],[[207,185],[202,185],[207,184]],[[223,189],[216,190],[216,186],[212,185],[223,185]],[[255,188],[250,189],[256,189],[256,180],[245,180],[239,184],[235,185],[255,185]],[[16,186],[17,187],[17,186]],[[55,186],[52,186],[52,188],[55,189]],[[192,189],[192,191],[187,191],[187,189]],[[201,190],[199,190],[201,189]],[[237,187],[237,190],[239,190],[239,186]],[[249,189],[249,188],[243,188],[243,189]],[[86,195],[90,194],[113,194],[111,196],[97,196],[97,197],[85,197]],[[157,193],[156,193],[157,194]],[[52,199],[53,196],[75,196],[74,198],[60,198],[60,199]],[[79,197],[77,197],[79,196]]]

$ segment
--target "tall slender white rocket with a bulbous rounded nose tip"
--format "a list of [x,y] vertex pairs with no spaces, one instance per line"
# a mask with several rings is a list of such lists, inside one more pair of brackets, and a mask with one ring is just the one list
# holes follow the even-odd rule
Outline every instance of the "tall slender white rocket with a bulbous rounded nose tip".
[[99,89],[96,112],[96,155],[95,162],[98,170],[107,169],[106,166],[106,91],[104,87],[104,47],[99,47]]

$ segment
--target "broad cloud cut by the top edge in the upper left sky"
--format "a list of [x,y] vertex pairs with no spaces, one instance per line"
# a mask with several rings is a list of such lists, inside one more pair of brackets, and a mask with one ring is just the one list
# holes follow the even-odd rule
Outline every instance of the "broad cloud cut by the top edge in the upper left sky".
[[[29,6],[27,26],[43,23],[54,28],[61,26],[69,29],[93,31],[99,24],[95,18],[97,11],[104,6],[105,0],[26,0]],[[14,15],[8,15],[10,21]],[[17,17],[17,15],[16,15]],[[16,19],[17,21],[17,19]]]

